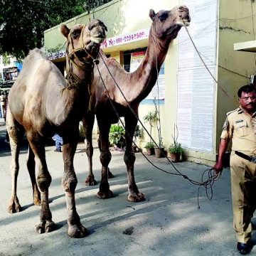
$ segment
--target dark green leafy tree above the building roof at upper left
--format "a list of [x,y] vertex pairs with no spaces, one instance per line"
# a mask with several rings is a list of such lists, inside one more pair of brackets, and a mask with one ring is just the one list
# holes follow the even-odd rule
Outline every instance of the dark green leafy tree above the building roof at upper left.
[[86,0],[0,0],[0,55],[43,46],[43,31],[85,11]]

